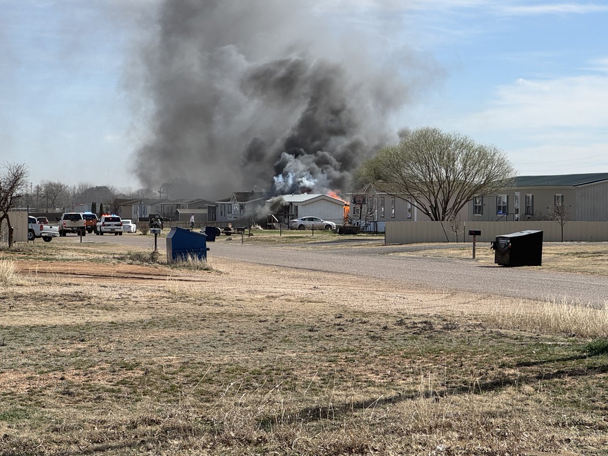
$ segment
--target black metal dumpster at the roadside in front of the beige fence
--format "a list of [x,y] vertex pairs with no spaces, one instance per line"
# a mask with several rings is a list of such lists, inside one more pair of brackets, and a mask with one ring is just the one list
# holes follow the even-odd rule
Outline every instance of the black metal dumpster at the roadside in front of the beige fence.
[[503,234],[492,241],[494,263],[503,266],[541,266],[542,231],[523,230]]

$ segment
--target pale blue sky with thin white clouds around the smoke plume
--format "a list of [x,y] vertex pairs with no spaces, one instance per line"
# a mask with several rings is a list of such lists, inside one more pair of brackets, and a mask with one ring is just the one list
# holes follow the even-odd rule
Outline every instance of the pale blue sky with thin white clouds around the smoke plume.
[[[412,80],[393,127],[438,126],[505,151],[520,175],[608,172],[608,4],[308,1],[336,40]],[[33,185],[137,188],[148,100],[130,76],[155,1],[0,0],[0,160]],[[138,95],[135,95],[138,94]]]

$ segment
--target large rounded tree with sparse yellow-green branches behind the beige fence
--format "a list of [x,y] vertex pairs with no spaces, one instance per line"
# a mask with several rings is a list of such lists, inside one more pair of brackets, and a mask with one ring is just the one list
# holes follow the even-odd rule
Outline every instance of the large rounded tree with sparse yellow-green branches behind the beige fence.
[[396,198],[412,198],[430,219],[458,213],[475,195],[508,187],[515,176],[505,153],[458,133],[424,127],[363,162],[354,183],[373,184]]

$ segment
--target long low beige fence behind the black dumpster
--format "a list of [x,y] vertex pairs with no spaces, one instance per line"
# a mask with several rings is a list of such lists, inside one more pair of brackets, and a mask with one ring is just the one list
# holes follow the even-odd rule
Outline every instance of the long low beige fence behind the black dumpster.
[[[543,241],[561,241],[561,226],[556,221],[461,222],[458,239],[449,222],[387,222],[387,244],[424,242],[471,242],[469,230],[481,230],[478,242],[494,241],[497,236],[523,230],[542,230]],[[564,225],[564,241],[608,241],[608,222],[573,222]]]

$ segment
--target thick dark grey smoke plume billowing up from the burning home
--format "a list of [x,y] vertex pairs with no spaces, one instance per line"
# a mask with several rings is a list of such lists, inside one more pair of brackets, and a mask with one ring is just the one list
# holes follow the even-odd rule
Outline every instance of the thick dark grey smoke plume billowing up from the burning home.
[[347,190],[359,163],[396,140],[387,123],[408,87],[365,54],[370,36],[336,35],[336,16],[311,5],[161,4],[140,54],[153,102],[135,156],[143,184],[185,179],[207,198]]

